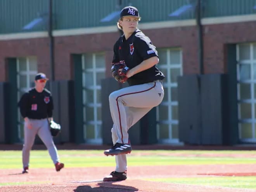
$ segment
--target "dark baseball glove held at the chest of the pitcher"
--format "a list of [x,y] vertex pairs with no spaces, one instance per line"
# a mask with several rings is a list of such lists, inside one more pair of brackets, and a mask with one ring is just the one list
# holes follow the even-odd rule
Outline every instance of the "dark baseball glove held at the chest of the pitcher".
[[122,63],[113,64],[111,67],[112,76],[120,83],[125,83],[127,81],[128,77],[126,74],[128,71],[129,67]]

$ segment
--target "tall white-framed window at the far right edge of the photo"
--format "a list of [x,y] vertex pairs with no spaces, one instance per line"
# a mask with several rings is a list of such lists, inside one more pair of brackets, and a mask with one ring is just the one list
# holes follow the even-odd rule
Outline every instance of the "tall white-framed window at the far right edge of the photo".
[[256,43],[237,45],[239,138],[256,142]]

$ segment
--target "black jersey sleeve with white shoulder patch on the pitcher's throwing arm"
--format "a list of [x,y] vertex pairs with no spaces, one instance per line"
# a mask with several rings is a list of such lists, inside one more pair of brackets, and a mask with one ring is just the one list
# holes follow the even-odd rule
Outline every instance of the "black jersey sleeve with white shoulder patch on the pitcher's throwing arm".
[[142,35],[138,37],[135,43],[136,51],[143,60],[149,59],[150,57],[158,57],[156,47],[147,36]]

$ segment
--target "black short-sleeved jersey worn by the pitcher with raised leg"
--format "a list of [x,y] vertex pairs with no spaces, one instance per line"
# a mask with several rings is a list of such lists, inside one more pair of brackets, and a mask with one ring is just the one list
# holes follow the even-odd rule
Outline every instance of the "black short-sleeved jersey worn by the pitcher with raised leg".
[[[155,56],[158,57],[156,47],[142,31],[137,29],[127,40],[125,35],[122,35],[115,43],[112,63],[125,63],[129,68],[133,68],[142,61]],[[163,78],[164,74],[153,66],[128,78],[127,82],[129,85],[139,85]]]

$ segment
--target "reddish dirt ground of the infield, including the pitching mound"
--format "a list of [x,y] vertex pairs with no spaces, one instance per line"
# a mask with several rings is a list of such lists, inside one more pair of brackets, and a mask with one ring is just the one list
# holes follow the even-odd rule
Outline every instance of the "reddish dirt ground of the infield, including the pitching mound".
[[[31,185],[17,183],[2,186],[0,192],[255,192],[228,187],[154,182],[154,178],[256,175],[251,170],[255,170],[255,165],[131,166],[127,180],[100,182],[103,176],[112,171],[111,167],[64,168],[60,172],[54,168],[31,168],[28,174],[21,174],[21,169],[9,169],[0,173],[2,183],[26,182]],[[149,178],[152,181],[147,181]]]

